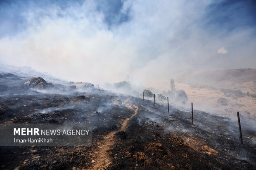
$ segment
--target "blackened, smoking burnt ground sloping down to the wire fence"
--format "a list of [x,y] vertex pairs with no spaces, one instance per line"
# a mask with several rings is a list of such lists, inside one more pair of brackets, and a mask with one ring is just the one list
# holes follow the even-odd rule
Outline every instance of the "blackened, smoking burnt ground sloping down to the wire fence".
[[223,117],[198,111],[192,125],[188,112],[107,91],[21,92],[0,96],[0,123],[90,123],[92,146],[0,147],[0,169],[256,169],[255,132],[241,145]]

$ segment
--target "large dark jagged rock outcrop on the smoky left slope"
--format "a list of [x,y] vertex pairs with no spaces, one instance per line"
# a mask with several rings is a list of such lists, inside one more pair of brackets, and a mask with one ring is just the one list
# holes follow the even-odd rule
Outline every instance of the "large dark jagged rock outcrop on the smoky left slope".
[[42,77],[32,77],[24,83],[28,88],[47,89],[54,87],[52,83],[47,83]]

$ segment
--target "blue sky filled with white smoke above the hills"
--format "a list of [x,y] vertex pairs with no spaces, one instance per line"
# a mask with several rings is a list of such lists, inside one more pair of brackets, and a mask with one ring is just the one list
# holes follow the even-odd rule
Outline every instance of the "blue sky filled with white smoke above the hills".
[[[139,84],[256,68],[254,0],[2,0],[0,60],[84,82]],[[83,74],[81,74],[83,73]]]

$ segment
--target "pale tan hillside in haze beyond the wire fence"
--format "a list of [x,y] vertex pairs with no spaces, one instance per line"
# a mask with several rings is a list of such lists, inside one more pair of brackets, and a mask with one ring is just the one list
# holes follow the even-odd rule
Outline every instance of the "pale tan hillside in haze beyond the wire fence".
[[[239,111],[244,116],[256,119],[256,69],[182,72],[173,78],[175,87],[185,90],[188,96],[184,107],[189,108],[193,102],[195,108],[207,112],[235,114]],[[165,88],[170,87],[166,84]],[[236,117],[230,117],[236,120]]]

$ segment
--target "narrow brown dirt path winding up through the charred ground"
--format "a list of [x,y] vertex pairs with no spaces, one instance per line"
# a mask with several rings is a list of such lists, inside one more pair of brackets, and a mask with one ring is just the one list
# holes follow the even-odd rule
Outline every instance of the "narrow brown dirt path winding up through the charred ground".
[[97,149],[92,150],[93,157],[92,157],[92,165],[89,169],[92,170],[104,170],[109,167],[112,163],[112,158],[107,152],[109,149],[112,149],[116,139],[114,138],[114,134],[125,130],[127,128],[127,123],[130,119],[132,119],[138,112],[138,107],[135,105],[127,105],[125,104],[126,107],[130,107],[131,109],[134,110],[134,114],[130,116],[129,118],[126,118],[122,126],[119,130],[113,131],[109,134],[107,134],[104,137],[104,140],[97,142],[95,145],[97,146]]

